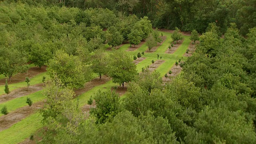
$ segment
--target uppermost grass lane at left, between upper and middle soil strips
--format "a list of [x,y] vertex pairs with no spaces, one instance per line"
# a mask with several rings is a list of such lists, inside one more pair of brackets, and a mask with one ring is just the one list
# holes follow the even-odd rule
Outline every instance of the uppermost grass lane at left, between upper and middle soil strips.
[[[29,82],[30,86],[42,83],[42,77],[43,76],[46,77],[46,80],[49,77],[46,74],[46,72],[38,74],[37,76],[34,76],[33,78],[30,79],[31,80],[31,82]],[[9,90],[12,91],[12,90],[15,90],[17,88],[22,88],[22,87],[26,87],[26,86],[27,86],[27,83],[25,82],[25,78],[24,78],[24,82],[17,82],[17,83],[14,83],[14,84],[9,84]],[[2,94],[4,94],[4,85],[0,86],[0,95],[2,95]]]

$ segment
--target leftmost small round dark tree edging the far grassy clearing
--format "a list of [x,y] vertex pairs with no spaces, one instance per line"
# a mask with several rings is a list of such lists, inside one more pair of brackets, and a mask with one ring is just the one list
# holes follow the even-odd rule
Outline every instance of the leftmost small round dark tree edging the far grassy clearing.
[[119,46],[124,38],[114,26],[110,26],[107,30],[107,41],[110,46]]

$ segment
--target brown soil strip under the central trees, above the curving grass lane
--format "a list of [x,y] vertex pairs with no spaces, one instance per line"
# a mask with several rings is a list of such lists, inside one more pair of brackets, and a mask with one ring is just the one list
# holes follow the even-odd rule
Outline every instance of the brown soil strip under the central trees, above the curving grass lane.
[[108,82],[110,80],[110,78],[106,77],[106,76],[101,76],[101,80],[100,78],[94,78],[92,81],[87,82],[84,86],[84,88],[78,89],[78,90],[74,90],[76,93],[76,96],[79,96],[80,94],[83,94],[84,92],[87,92],[88,90],[91,90],[92,88],[94,88],[94,86],[98,86],[101,84],[105,84],[106,82]]

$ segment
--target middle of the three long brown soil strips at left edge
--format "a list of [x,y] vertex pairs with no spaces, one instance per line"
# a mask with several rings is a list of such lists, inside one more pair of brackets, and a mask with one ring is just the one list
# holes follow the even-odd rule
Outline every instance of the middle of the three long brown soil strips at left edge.
[[27,87],[24,87],[13,90],[12,92],[10,92],[10,94],[8,94],[8,96],[6,96],[6,94],[3,94],[2,96],[0,96],[0,103],[7,102],[8,100],[26,96],[28,94],[32,94],[34,92],[42,90],[42,86],[43,84],[36,84],[34,86],[30,86],[29,89]]

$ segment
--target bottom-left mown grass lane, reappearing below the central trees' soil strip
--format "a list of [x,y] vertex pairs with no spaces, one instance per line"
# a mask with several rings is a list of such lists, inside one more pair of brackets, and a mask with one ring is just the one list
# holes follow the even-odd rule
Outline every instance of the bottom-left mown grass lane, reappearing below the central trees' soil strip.
[[[112,86],[116,86],[116,84],[112,83],[112,81],[110,80],[106,84],[95,86],[88,92],[81,94],[80,96],[78,96],[79,106],[87,104],[87,101],[89,100],[90,96],[96,93],[99,89],[105,91],[109,90]],[[74,100],[77,100],[77,98]],[[38,129],[42,128],[41,120],[42,116],[39,113],[35,113],[24,118],[20,122],[17,122],[10,128],[1,131],[1,144],[17,144],[19,142],[24,141],[26,138],[30,136],[30,134],[33,134]]]

